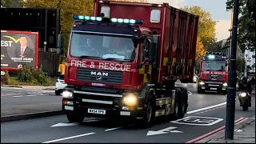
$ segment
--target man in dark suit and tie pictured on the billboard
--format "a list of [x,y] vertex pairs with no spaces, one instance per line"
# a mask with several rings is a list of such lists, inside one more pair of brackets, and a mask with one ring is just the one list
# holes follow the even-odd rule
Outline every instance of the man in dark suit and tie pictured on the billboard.
[[15,58],[33,58],[34,57],[33,50],[27,46],[26,36],[21,36],[20,46],[15,48],[14,57]]

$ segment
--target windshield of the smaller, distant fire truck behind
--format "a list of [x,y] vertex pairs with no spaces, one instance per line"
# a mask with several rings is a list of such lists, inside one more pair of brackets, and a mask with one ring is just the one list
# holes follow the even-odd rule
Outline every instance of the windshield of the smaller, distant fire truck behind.
[[203,62],[203,70],[226,71],[226,62]]

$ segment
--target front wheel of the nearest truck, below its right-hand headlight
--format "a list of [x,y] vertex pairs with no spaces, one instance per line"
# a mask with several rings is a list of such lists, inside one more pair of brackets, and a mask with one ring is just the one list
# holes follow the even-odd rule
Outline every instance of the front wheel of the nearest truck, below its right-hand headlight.
[[141,123],[142,128],[150,127],[154,122],[154,118],[155,118],[154,101],[150,101],[146,105],[145,118],[142,119],[142,123]]

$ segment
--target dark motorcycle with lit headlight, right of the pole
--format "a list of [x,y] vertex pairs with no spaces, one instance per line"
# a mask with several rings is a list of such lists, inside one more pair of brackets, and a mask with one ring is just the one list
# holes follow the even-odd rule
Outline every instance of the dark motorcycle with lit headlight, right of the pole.
[[250,92],[247,90],[242,90],[238,95],[240,106],[242,106],[242,110],[246,111],[250,107]]

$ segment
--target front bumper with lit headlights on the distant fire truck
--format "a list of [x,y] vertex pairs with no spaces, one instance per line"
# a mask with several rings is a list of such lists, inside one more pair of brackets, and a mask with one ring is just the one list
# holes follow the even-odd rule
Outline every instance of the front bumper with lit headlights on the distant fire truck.
[[[204,84],[202,84],[204,83]],[[226,82],[204,82],[198,83],[198,90],[215,90],[215,91],[226,91],[227,86],[224,85]]]

